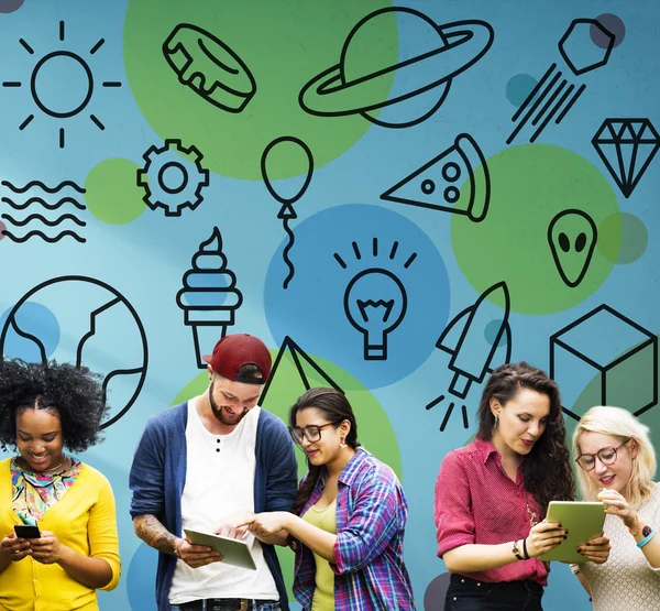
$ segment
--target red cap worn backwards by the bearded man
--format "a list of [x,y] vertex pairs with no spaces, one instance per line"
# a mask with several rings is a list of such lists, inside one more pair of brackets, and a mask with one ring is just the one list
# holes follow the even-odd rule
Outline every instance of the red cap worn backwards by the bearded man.
[[[244,384],[265,384],[271,375],[271,352],[266,345],[258,338],[248,334],[235,334],[224,336],[216,343],[212,354],[206,354],[202,359],[211,365],[211,369],[233,382]],[[262,371],[263,378],[243,378],[239,375],[239,369],[244,364],[255,364]]]

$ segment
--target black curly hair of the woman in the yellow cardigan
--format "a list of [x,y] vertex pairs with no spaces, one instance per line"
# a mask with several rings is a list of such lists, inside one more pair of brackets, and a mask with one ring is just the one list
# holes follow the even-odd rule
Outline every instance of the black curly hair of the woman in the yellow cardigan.
[[2,360],[0,365],[0,446],[16,447],[16,415],[30,408],[59,416],[64,445],[84,451],[100,440],[108,406],[100,375],[86,367],[50,361]]

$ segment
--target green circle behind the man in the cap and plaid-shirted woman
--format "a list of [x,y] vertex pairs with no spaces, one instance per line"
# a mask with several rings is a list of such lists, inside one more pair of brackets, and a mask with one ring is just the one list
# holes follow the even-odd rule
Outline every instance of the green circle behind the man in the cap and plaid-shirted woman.
[[[295,359],[302,369],[300,374],[294,352],[286,350],[279,361],[277,361],[277,351],[271,351],[273,362],[276,363],[271,374],[271,383],[265,394],[264,408],[279,416],[285,423],[288,423],[288,413],[292,405],[298,396],[307,391],[307,386],[329,386],[329,382],[316,369],[311,362],[326,373],[337,385],[344,389],[349,399],[355,419],[358,422],[358,437],[364,447],[376,458],[387,463],[402,479],[402,456],[396,440],[394,428],[387,418],[387,414],[381,407],[374,395],[360,381],[353,378],[348,371],[340,367],[314,357],[307,357],[301,352],[295,352]],[[307,360],[309,359],[309,360]],[[305,384],[307,381],[307,385]],[[176,397],[170,405],[178,405],[194,396],[204,393],[209,386],[209,375],[206,371],[195,377]],[[262,395],[263,399],[263,395]],[[262,403],[262,402],[260,402]],[[302,477],[307,472],[305,455],[297,448],[298,476]],[[294,582],[294,555],[282,547],[277,547],[277,556],[284,574],[284,582],[287,583],[289,597],[293,598],[292,585]]]

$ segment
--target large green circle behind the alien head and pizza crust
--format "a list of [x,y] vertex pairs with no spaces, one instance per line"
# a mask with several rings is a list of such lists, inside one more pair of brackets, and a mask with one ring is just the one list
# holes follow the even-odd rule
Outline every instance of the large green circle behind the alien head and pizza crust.
[[[486,218],[473,222],[453,215],[451,222],[453,251],[470,284],[481,293],[505,281],[512,310],[522,314],[560,312],[593,294],[613,263],[594,248],[582,282],[568,286],[554,263],[548,229],[559,212],[569,209],[587,214],[596,227],[618,212],[616,196],[603,175],[584,157],[549,144],[506,149],[486,163],[491,177]],[[483,170],[474,174],[475,193],[484,193]],[[461,200],[470,197],[470,189],[468,181]],[[618,251],[616,236],[598,236],[596,243],[601,241],[612,241],[607,249]]]

